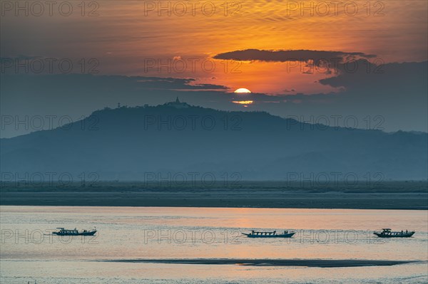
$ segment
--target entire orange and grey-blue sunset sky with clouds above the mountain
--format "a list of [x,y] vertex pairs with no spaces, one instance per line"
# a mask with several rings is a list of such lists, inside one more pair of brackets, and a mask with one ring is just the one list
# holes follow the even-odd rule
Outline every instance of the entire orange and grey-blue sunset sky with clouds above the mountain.
[[176,96],[428,131],[427,1],[36,2],[1,2],[0,137]]

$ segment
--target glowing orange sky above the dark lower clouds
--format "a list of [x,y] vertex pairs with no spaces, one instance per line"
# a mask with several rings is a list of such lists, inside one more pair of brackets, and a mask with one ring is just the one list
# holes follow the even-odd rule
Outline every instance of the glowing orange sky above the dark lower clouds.
[[[305,7],[312,3],[313,15],[311,9],[300,11],[296,5],[301,1],[199,1],[195,6],[181,1],[185,7],[175,6],[177,2],[163,1],[162,9],[159,1],[98,1],[95,17],[81,16],[77,7],[69,17],[6,14],[1,20],[1,53],[29,55],[31,45],[31,55],[98,58],[105,74],[196,78],[195,83],[256,93],[337,90],[317,83],[331,75],[289,71],[286,63],[228,62],[230,68],[225,70],[225,63],[212,56],[256,48],[362,52],[384,62],[427,60],[427,1],[354,1],[358,11],[352,5],[345,9],[350,1],[338,6],[305,1]],[[322,3],[329,4],[328,13]],[[173,58],[198,63],[195,70],[187,66],[183,72],[174,66],[145,68],[148,61],[168,64]],[[214,70],[204,70],[200,63],[204,59],[216,63]]]

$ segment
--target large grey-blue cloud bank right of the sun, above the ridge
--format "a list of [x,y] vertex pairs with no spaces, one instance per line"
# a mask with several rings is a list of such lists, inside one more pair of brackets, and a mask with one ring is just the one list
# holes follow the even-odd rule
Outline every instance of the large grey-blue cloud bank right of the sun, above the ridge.
[[[428,132],[428,61],[375,65],[360,60],[355,63],[358,68],[352,72],[351,67],[347,69],[342,64],[337,76],[320,80],[323,85],[340,88],[339,93],[285,93],[280,95],[280,104],[264,103],[263,110],[307,120],[322,115],[355,116],[359,127]],[[262,95],[253,100],[262,102],[267,98]]]

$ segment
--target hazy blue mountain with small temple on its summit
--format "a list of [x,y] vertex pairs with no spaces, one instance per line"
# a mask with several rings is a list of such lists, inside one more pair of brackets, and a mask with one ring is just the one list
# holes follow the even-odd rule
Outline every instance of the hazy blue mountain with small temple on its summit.
[[1,179],[427,179],[427,138],[176,101],[106,108],[54,130],[1,139]]

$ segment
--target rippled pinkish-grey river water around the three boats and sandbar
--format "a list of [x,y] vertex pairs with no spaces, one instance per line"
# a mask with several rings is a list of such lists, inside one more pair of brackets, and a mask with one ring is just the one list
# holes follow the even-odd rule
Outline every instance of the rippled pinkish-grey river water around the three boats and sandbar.
[[[427,283],[428,212],[1,206],[1,283]],[[95,237],[51,236],[56,227]],[[380,227],[415,230],[380,239]],[[290,239],[246,238],[295,231]],[[355,268],[123,263],[137,259],[418,261]]]

